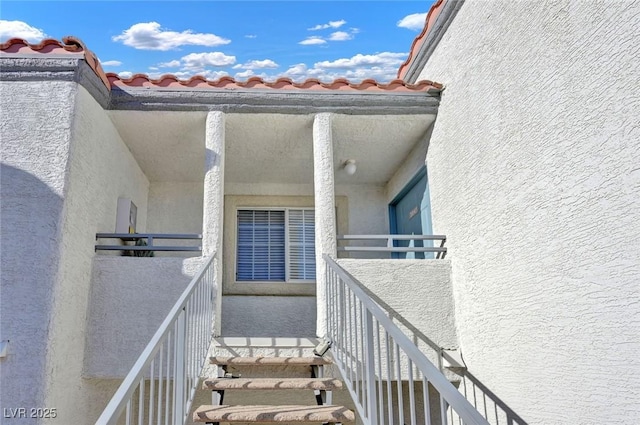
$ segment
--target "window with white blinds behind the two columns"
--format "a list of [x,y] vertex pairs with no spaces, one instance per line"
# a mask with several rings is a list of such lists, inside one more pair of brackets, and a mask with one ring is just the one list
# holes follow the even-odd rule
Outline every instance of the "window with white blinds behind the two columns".
[[312,209],[238,210],[237,281],[315,280]]

